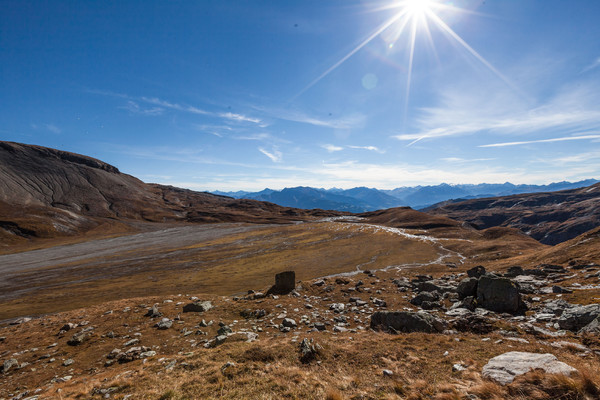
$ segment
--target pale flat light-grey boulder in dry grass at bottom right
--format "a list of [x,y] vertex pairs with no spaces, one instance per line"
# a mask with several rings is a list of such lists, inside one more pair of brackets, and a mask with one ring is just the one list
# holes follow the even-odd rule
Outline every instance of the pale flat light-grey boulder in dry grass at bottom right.
[[549,374],[570,376],[577,370],[564,362],[558,361],[553,354],[525,353],[511,351],[492,358],[483,367],[481,375],[501,385],[508,385],[517,376],[534,369],[542,369]]

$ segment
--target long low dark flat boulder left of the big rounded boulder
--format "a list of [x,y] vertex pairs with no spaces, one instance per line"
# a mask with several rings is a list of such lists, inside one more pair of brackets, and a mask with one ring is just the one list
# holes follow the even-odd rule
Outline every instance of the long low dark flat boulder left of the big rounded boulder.
[[374,330],[437,333],[444,331],[446,326],[446,321],[424,311],[378,311],[371,315],[371,329]]

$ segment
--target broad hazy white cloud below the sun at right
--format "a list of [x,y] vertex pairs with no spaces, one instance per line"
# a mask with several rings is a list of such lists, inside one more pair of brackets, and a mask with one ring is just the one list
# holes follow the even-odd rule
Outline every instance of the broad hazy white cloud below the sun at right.
[[597,89],[593,83],[572,85],[533,107],[507,92],[446,89],[439,106],[421,109],[417,132],[394,138],[410,141],[412,145],[423,139],[479,133],[529,134],[600,128]]

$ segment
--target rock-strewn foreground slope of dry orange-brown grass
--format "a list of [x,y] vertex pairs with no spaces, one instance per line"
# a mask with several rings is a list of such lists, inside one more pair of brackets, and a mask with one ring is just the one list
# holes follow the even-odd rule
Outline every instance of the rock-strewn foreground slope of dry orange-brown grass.
[[258,289],[15,321],[0,328],[0,399],[600,395],[599,265],[280,276]]

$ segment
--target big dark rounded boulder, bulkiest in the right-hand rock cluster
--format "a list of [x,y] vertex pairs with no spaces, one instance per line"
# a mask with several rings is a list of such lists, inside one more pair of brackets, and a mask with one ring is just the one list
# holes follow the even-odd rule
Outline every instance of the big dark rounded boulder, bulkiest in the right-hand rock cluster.
[[494,274],[485,274],[479,278],[477,304],[496,312],[516,313],[523,308],[518,285]]

